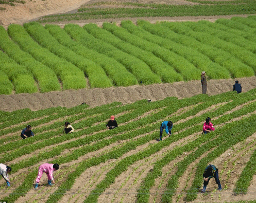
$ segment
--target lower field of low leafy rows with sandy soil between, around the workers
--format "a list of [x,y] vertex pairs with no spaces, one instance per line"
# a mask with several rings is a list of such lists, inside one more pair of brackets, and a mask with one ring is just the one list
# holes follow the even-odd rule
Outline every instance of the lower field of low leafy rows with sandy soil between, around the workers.
[[[233,202],[254,200],[255,89],[246,93],[168,97],[95,108],[86,104],[1,114],[0,162],[12,167],[12,186],[1,179],[0,199],[7,202]],[[106,130],[110,115],[118,128]],[[216,130],[202,135],[211,117]],[[174,123],[172,136],[159,138],[162,121]],[[75,128],[62,134],[63,123]],[[22,140],[30,124],[36,136]],[[33,189],[40,164],[59,163],[56,185],[43,176]],[[207,193],[202,173],[219,169],[223,191],[211,180]]]

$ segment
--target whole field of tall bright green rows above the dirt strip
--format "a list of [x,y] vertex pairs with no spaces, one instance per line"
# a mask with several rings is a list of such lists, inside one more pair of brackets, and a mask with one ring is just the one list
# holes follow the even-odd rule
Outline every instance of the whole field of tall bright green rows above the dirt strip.
[[[256,17],[0,27],[1,94],[252,77]],[[26,81],[26,82],[25,82]]]

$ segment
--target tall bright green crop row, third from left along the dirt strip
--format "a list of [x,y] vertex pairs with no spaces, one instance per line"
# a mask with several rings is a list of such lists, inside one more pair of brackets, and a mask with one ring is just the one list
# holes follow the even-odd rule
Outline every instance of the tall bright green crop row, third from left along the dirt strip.
[[6,30],[2,26],[0,26],[0,35],[1,49],[4,50],[11,59],[23,65],[31,72],[33,78],[38,82],[41,93],[60,90],[59,81],[52,69],[49,69],[33,59],[28,53],[22,51],[18,45],[9,39]]

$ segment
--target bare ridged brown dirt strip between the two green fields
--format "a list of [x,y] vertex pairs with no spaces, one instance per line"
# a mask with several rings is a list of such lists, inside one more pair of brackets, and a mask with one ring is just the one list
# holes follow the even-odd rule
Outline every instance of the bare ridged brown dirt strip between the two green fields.
[[[236,79],[208,81],[207,94],[217,95],[232,91]],[[256,77],[237,79],[243,92],[256,88]],[[13,110],[30,108],[39,110],[50,107],[63,106],[71,108],[86,102],[90,107],[109,104],[115,101],[123,104],[133,103],[142,99],[151,101],[162,100],[166,97],[178,99],[201,94],[200,81],[176,82],[152,85],[134,85],[129,87],[92,88],[79,90],[53,91],[50,93],[0,95],[0,110],[12,112]]]

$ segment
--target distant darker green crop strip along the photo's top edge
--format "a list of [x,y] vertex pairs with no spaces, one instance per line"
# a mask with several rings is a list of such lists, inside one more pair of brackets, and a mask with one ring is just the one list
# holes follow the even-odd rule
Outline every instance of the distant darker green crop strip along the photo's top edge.
[[[125,17],[159,17],[159,16],[201,16],[201,15],[232,15],[255,14],[254,1],[196,1],[197,5],[166,5],[166,4],[138,4],[117,3],[115,8],[100,8],[100,5],[113,3],[98,3],[80,8],[78,13],[61,15],[47,15],[38,22],[60,22],[88,19],[116,19]],[[240,2],[240,3],[238,3]],[[242,3],[241,3],[242,2]],[[204,5],[202,5],[204,4]],[[205,5],[208,4],[208,5]],[[90,8],[93,7],[93,8]],[[132,7],[132,8],[127,8]]]

